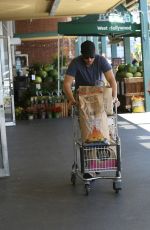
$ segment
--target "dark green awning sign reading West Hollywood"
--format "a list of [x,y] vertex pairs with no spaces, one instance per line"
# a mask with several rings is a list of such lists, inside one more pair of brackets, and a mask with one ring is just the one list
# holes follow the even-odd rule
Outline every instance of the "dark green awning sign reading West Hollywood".
[[141,26],[137,23],[102,21],[98,14],[85,16],[71,22],[59,22],[58,34],[76,36],[128,36],[139,37]]

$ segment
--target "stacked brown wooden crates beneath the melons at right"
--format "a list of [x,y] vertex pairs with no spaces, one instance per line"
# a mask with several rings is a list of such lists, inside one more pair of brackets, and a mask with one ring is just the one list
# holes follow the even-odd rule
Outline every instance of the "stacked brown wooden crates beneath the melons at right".
[[144,83],[142,77],[123,78],[117,82],[118,99],[120,107],[118,112],[130,112],[133,96],[144,96]]

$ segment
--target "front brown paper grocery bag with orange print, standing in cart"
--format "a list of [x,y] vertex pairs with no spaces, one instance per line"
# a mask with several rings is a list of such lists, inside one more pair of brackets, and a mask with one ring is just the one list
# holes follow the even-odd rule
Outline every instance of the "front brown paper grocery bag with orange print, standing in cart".
[[83,142],[109,140],[103,93],[99,87],[79,87],[79,121]]

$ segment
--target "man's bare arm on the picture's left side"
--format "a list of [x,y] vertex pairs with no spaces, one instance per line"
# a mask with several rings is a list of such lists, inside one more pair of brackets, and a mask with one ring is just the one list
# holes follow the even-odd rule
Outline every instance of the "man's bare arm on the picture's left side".
[[67,99],[69,100],[68,107],[76,103],[71,89],[73,81],[74,81],[74,77],[71,75],[66,75],[64,78],[63,91],[66,94]]

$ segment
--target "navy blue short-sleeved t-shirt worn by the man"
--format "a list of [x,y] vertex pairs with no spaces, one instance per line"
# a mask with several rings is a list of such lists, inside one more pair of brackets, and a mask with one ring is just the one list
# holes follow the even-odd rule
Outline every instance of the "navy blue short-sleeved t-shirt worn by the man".
[[86,66],[83,57],[74,58],[68,66],[67,75],[75,77],[75,88],[81,86],[95,85],[96,80],[101,80],[102,73],[111,69],[108,61],[100,55],[96,55],[94,62]]

